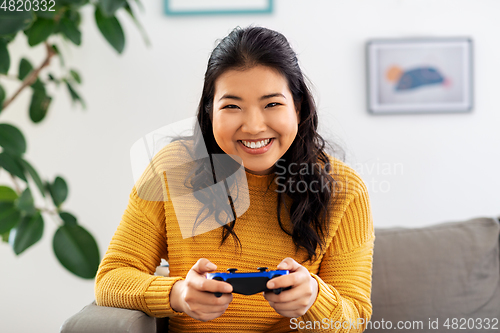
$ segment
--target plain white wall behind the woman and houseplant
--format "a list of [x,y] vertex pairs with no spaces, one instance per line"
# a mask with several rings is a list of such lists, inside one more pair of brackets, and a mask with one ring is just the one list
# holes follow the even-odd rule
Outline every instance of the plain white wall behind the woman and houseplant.
[[[344,146],[347,162],[368,184],[376,226],[422,226],[500,215],[499,1],[275,4],[272,15],[173,18],[163,14],[162,1],[148,0],[140,21],[153,46],[146,48],[129,17],[121,15],[127,36],[121,56],[104,41],[87,8],[82,46],[63,47],[63,52],[83,76],[79,91],[88,110],[72,108],[64,89],[51,89],[55,98],[41,125],[28,121],[27,91],[2,113],[1,122],[23,129],[27,157],[40,173],[51,179],[60,174],[69,181],[65,208],[96,236],[101,255],[133,185],[132,143],[161,125],[195,114],[216,39],[251,23],[283,32],[298,52],[314,83],[323,132]],[[472,37],[472,113],[368,114],[365,41],[414,36]],[[9,49],[13,59],[29,52],[34,64],[44,54],[43,48],[27,48],[23,35]],[[17,62],[12,67],[15,71]],[[58,68],[58,60],[51,67]],[[15,89],[6,81],[2,84],[9,93]],[[57,263],[51,248],[55,229],[46,218],[42,241],[19,258],[0,245],[2,332],[56,332],[66,318],[93,300],[93,281],[74,277]]]

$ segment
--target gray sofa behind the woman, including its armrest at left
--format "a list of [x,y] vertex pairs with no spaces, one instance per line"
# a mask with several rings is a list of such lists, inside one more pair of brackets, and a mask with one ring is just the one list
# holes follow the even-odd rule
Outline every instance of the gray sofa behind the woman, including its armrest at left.
[[[500,224],[477,218],[375,230],[373,315],[365,332],[498,332]],[[64,333],[167,332],[143,312],[94,303]],[[481,326],[481,327],[480,327]]]

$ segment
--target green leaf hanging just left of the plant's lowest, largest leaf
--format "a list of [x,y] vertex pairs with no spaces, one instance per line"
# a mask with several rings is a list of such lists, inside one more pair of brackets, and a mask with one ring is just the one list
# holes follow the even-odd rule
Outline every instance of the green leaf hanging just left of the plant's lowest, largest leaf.
[[17,227],[13,229],[13,232],[15,232],[15,236],[12,248],[14,249],[14,253],[19,255],[42,238],[42,215],[37,213],[35,215],[24,216]]

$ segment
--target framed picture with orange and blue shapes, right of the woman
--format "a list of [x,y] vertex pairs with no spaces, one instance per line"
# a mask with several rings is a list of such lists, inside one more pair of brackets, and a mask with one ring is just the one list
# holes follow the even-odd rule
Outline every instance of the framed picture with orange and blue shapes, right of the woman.
[[370,40],[368,110],[374,114],[469,112],[469,38]]

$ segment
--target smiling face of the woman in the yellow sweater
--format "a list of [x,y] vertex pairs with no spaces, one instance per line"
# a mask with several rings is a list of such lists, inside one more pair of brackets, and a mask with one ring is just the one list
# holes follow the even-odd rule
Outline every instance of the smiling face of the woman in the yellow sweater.
[[295,139],[300,121],[285,77],[262,65],[228,70],[215,81],[213,105],[219,147],[239,156],[247,171],[271,173]]

